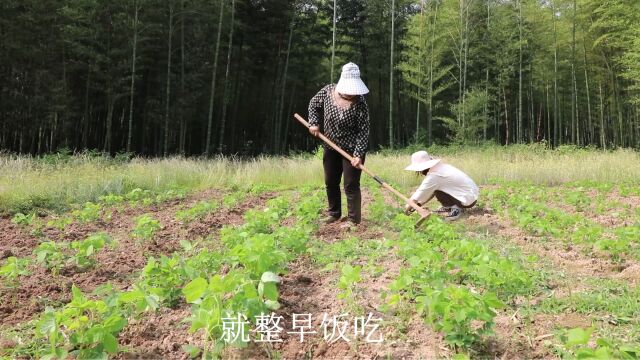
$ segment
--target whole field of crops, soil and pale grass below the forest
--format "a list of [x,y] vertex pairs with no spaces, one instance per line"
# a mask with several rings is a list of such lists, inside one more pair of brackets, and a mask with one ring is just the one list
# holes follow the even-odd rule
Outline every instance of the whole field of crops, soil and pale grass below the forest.
[[[317,154],[0,155],[0,356],[640,357],[636,152],[431,152],[481,198],[419,230],[364,177],[363,223],[319,224]],[[367,166],[408,193],[408,154]]]

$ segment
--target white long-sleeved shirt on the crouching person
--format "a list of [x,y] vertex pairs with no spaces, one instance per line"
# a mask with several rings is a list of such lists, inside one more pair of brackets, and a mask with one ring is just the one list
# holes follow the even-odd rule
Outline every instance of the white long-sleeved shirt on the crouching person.
[[429,169],[418,190],[411,195],[411,200],[424,204],[433,197],[436,190],[445,192],[460,200],[462,205],[469,206],[478,200],[478,185],[453,165],[440,162]]

